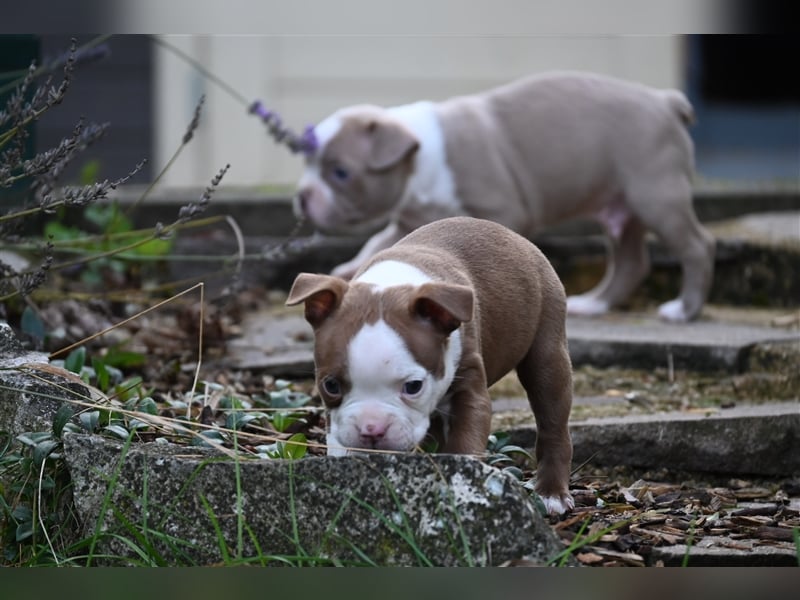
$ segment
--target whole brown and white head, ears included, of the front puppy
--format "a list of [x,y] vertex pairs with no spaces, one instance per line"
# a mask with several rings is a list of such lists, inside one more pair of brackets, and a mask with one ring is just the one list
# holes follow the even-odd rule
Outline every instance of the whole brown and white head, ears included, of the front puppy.
[[301,273],[286,303],[301,302],[314,329],[328,454],[422,442],[461,358],[472,290],[439,282],[380,288]]

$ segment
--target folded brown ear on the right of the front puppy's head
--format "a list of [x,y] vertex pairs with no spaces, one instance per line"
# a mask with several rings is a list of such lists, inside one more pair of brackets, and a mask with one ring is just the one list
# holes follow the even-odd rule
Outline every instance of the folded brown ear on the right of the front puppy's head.
[[472,320],[475,298],[472,289],[450,283],[425,283],[411,299],[411,311],[430,321],[444,334],[450,334]]

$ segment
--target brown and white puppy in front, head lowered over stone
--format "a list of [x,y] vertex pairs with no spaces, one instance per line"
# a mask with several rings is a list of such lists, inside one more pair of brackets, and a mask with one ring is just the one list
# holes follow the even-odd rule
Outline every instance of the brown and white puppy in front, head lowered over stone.
[[536,490],[551,513],[568,490],[572,369],[564,288],[531,242],[455,217],[409,234],[352,281],[301,273],[286,301],[314,329],[328,454],[411,450],[482,455],[488,386],[516,369],[536,417]]

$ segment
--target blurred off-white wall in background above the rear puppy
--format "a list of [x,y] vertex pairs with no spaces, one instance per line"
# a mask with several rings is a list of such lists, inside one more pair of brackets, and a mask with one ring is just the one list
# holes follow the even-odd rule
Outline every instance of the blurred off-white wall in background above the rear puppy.
[[[295,130],[359,102],[393,105],[479,91],[529,73],[580,69],[683,88],[681,36],[161,36]],[[302,159],[277,146],[240,101],[173,52],[155,49],[156,172],[201,94],[201,125],[164,183],[292,185]]]

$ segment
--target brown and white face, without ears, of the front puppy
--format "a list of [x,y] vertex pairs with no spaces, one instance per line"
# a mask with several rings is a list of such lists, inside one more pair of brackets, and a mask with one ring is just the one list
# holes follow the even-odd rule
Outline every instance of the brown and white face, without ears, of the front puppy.
[[460,332],[449,336],[408,310],[413,287],[354,284],[317,330],[317,387],[328,407],[328,454],[405,451],[422,442],[453,381]]

